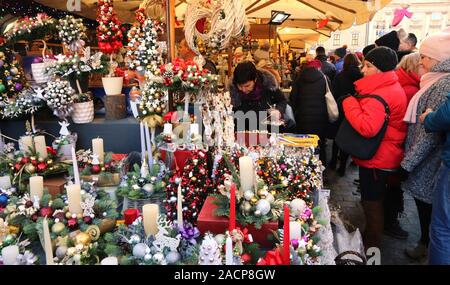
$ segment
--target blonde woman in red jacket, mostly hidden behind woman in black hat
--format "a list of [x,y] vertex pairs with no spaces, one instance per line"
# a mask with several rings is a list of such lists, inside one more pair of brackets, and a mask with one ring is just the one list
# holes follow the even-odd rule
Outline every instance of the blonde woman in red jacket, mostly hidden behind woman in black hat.
[[398,82],[405,90],[408,103],[420,89],[420,54],[418,52],[405,55],[397,66]]

